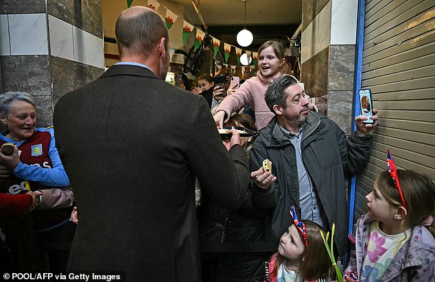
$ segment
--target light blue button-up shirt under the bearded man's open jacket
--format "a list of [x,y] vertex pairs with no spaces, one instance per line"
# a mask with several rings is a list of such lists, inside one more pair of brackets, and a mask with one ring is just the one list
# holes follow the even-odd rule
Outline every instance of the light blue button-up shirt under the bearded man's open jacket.
[[298,135],[294,135],[289,131],[285,130],[281,125],[279,125],[281,131],[283,131],[284,136],[292,142],[294,146],[294,151],[296,152],[296,166],[298,168],[298,181],[299,181],[299,205],[301,206],[301,219],[311,220],[316,222],[323,228],[328,227],[326,220],[322,218],[322,209],[319,205],[318,195],[316,189],[309,177],[307,168],[303,164],[302,159],[302,136],[303,136],[303,126],[299,129]]

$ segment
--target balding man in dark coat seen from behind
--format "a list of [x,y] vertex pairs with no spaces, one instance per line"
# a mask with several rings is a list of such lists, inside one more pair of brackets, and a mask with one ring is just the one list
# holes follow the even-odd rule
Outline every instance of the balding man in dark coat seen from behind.
[[125,10],[115,34],[121,62],[54,112],[80,217],[68,270],[199,281],[195,177],[222,207],[237,209],[248,160],[235,130],[226,150],[202,97],[163,80],[169,42],[156,12]]

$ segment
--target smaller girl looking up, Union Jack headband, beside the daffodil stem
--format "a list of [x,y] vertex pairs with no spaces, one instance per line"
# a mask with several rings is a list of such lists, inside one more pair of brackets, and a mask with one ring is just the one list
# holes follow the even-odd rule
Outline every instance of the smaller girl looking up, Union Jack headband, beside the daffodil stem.
[[294,224],[281,236],[278,252],[266,262],[265,282],[331,281],[329,260],[320,230],[309,220],[299,221],[296,210],[290,211]]

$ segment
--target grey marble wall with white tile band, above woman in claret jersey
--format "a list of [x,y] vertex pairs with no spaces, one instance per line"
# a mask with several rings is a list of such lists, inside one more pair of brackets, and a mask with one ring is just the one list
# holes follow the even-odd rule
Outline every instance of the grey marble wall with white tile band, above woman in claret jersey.
[[104,73],[101,0],[3,0],[0,84],[38,105],[38,126],[52,124],[65,93]]

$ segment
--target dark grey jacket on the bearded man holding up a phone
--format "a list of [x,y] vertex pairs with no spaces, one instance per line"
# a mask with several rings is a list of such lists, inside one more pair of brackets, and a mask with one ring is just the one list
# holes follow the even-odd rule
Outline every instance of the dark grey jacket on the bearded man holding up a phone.
[[[324,207],[329,227],[336,223],[335,244],[339,255],[346,253],[348,242],[349,209],[344,177],[364,170],[371,143],[370,134],[353,133],[346,140],[340,127],[322,114],[309,112],[305,121],[301,144],[303,162]],[[294,146],[283,136],[276,117],[261,129],[252,146],[251,171],[258,170],[263,159],[272,161],[272,175],[277,181],[267,190],[252,182],[252,196],[259,207],[272,208],[266,218],[266,237],[278,243],[290,225],[290,208],[295,205],[299,209],[299,183]]]

